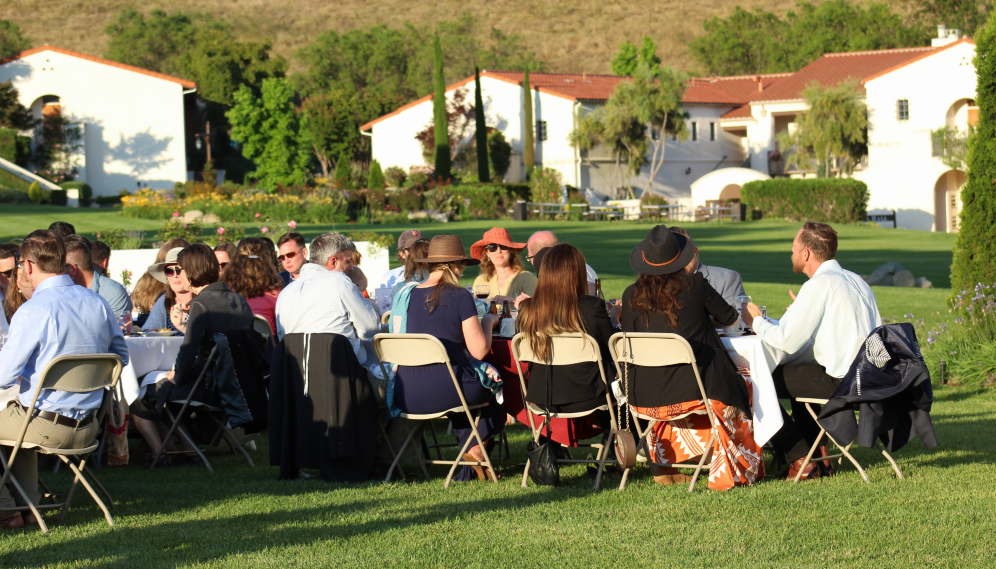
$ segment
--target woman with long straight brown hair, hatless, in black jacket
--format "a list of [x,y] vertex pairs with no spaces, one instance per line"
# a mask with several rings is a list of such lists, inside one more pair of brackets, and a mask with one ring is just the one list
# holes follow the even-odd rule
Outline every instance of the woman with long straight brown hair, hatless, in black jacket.
[[[546,358],[550,353],[550,336],[565,332],[584,332],[595,339],[602,352],[605,377],[615,376],[609,337],[614,330],[605,311],[605,303],[587,294],[584,255],[573,245],[562,243],[549,248],[543,256],[536,293],[519,305],[516,321],[533,353]],[[549,384],[550,391],[547,391]],[[549,407],[557,413],[574,413],[605,405],[607,386],[598,366],[579,363],[567,366],[530,364],[526,401]]]

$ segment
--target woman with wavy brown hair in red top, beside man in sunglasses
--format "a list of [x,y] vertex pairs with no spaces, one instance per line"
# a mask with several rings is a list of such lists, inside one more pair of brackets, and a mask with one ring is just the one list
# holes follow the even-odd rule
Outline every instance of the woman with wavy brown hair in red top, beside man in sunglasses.
[[[222,273],[222,282],[232,292],[242,295],[249,303],[252,313],[263,316],[270,323],[273,334],[277,334],[277,297],[284,286],[273,264],[266,260],[266,247],[260,239],[246,237],[239,241],[239,247],[231,264]],[[217,255],[218,251],[215,251]]]

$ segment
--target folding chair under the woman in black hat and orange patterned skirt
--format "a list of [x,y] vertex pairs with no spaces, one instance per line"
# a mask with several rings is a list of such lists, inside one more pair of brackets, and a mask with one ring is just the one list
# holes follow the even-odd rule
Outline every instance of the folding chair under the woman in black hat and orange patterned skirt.
[[[667,367],[673,365],[692,366],[692,371],[695,372],[695,381],[699,386],[699,394],[702,395],[702,401],[705,403],[706,414],[709,416],[710,424],[709,442],[706,444],[705,449],[702,452],[702,458],[699,459],[698,464],[659,464],[654,462],[654,455],[650,450],[650,445],[647,443],[647,436],[650,434],[650,430],[653,426],[659,423],[660,420],[650,417],[649,415],[638,413],[628,401],[627,408],[631,416],[636,419],[634,424],[636,425],[637,434],[640,436],[637,447],[643,447],[644,452],[646,453],[645,460],[651,466],[694,468],[695,474],[692,475],[692,481],[688,485],[688,491],[694,491],[695,482],[698,480],[699,474],[702,473],[702,470],[712,468],[713,444],[716,442],[716,437],[718,436],[717,433],[720,427],[716,419],[716,415],[712,411],[712,404],[709,401],[709,397],[706,395],[705,386],[702,384],[702,376],[699,375],[699,366],[695,362],[695,353],[692,351],[692,347],[684,338],[677,334],[619,332],[613,334],[612,337],[609,338],[609,352],[612,354],[612,359],[616,364],[616,372],[619,374],[619,377],[625,377],[622,369],[622,365],[624,364],[640,367]],[[630,370],[629,373],[632,374],[632,370]],[[677,419],[679,417],[675,418]],[[646,429],[641,430],[639,419],[648,421]],[[631,470],[632,469],[626,469],[626,471],[623,472],[622,482],[619,483],[620,490],[626,488],[626,481],[629,479]]]

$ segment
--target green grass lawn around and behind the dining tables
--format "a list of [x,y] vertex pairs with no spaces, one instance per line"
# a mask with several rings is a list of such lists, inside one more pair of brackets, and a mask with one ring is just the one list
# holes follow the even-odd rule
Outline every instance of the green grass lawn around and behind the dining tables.
[[[11,215],[12,212],[18,215]],[[83,233],[101,228],[154,230],[158,223],[109,210],[7,209],[0,239],[23,236],[63,219]],[[469,245],[493,222],[421,225],[429,235],[459,234]],[[513,238],[553,229],[577,245],[618,296],[633,281],[629,251],[649,224],[502,222]],[[796,224],[692,224],[707,264],[740,271],[747,291],[781,314],[787,289],[804,277],[791,271]],[[338,226],[342,230],[343,226]],[[331,230],[302,226],[308,236]],[[346,226],[390,232],[404,227]],[[842,226],[839,258],[867,273],[899,261],[933,290],[876,288],[883,316],[913,312],[928,321],[947,315],[953,237],[878,227]],[[469,275],[468,276],[472,276]],[[196,467],[148,471],[103,468],[100,477],[118,501],[109,528],[85,494],[69,524],[50,536],[0,533],[0,567],[991,567],[996,564],[993,457],[996,394],[937,386],[933,420],[941,446],[914,441],[896,453],[906,480],[869,449],[856,455],[870,485],[846,466],[838,476],[801,485],[768,481],[719,493],[700,481],[689,495],[660,488],[640,467],[623,493],[618,478],[592,493],[583,467],[563,471],[561,488],[518,485],[528,439],[510,428],[514,459],[505,479],[454,483],[417,478],[391,484],[330,485],[279,482],[265,466],[267,445],[249,468],[236,457],[214,459],[216,472]],[[136,441],[133,441],[133,449]],[[436,474],[445,475],[443,471]],[[44,477],[64,487],[65,472]]]

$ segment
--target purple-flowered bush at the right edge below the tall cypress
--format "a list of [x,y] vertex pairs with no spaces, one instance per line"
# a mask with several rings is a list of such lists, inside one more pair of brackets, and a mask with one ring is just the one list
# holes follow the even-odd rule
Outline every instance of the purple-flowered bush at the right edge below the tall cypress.
[[[921,346],[931,373],[946,361],[951,380],[996,386],[996,284],[978,283],[972,291],[961,291],[954,298],[951,313],[955,315],[953,324],[931,328],[926,346]],[[906,316],[913,318],[912,314]]]

